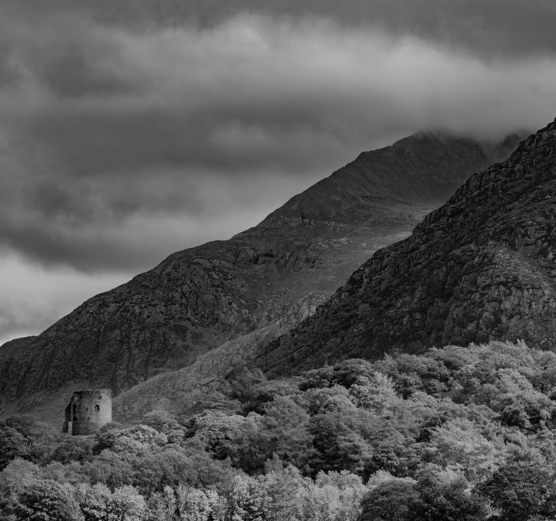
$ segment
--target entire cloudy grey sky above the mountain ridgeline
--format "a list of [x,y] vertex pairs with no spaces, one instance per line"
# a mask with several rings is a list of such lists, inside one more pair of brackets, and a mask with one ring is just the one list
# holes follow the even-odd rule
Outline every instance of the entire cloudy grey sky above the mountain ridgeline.
[[556,116],[554,0],[3,0],[0,343],[420,129]]

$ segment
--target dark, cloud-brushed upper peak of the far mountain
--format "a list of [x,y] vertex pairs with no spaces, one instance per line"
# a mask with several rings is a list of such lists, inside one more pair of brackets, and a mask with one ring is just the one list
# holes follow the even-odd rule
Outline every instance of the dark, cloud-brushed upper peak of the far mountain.
[[[523,136],[525,137],[525,136]],[[502,161],[519,136],[498,144],[421,132],[355,161],[294,196],[257,228],[349,233],[412,219],[411,207],[436,208],[476,172]]]

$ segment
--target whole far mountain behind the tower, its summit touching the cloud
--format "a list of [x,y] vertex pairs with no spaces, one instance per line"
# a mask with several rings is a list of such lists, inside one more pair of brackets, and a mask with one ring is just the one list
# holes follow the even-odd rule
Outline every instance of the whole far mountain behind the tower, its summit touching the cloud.
[[249,361],[517,141],[419,133],[361,154],[229,241],[172,254],[21,348],[0,347],[3,413],[49,410],[52,393],[62,403],[90,385],[117,395],[224,345],[210,367]]

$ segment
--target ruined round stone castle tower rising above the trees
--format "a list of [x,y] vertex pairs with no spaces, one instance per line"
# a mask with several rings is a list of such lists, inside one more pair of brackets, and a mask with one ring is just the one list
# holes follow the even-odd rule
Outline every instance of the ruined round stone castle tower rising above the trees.
[[74,436],[95,434],[112,421],[112,391],[94,389],[76,391],[66,407],[62,432]]

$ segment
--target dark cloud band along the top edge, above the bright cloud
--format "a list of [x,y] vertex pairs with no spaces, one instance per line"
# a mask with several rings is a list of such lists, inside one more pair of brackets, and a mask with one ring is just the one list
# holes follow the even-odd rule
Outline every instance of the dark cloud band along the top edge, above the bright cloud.
[[[21,3],[13,0],[14,4]],[[192,24],[214,27],[242,13],[331,18],[347,27],[381,27],[484,57],[529,56],[556,50],[551,0],[28,0],[52,12],[87,13],[102,24],[135,31]]]

